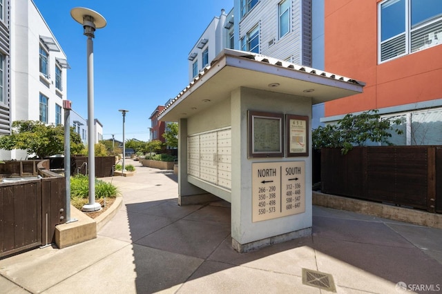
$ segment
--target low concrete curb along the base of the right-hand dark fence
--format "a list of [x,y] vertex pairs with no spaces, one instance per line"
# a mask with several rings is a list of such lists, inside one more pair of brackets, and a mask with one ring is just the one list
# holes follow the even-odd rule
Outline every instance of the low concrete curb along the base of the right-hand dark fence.
[[431,228],[442,228],[442,215],[422,210],[391,206],[360,199],[352,199],[313,191],[313,204],[355,213],[383,217],[398,222],[406,222]]

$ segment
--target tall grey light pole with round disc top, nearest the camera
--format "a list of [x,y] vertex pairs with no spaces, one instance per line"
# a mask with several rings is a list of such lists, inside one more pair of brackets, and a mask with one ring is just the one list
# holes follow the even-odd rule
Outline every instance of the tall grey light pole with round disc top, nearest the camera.
[[70,10],[70,16],[84,28],[84,35],[88,37],[87,67],[88,67],[88,168],[89,168],[89,203],[84,205],[83,211],[96,211],[102,208],[95,203],[95,132],[94,132],[94,45],[97,28],[106,26],[106,19],[101,14],[88,8],[77,7]]

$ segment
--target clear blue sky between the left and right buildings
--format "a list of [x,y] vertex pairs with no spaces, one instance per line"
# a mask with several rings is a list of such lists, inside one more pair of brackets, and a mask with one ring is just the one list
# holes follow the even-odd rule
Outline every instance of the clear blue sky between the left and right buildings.
[[95,32],[95,118],[104,126],[104,139],[125,137],[148,141],[148,119],[158,105],[189,84],[190,50],[221,9],[233,0],[117,1],[34,0],[68,57],[67,99],[87,119],[86,36],[70,10],[86,7],[102,14],[105,28]]

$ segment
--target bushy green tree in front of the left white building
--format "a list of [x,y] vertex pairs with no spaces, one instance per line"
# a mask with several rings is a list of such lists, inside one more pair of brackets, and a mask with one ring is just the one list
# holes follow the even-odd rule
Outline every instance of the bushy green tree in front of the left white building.
[[[0,137],[0,148],[22,149],[38,158],[64,153],[64,126],[46,125],[41,121],[14,121],[11,135]],[[84,148],[79,134],[70,128],[70,153]]]

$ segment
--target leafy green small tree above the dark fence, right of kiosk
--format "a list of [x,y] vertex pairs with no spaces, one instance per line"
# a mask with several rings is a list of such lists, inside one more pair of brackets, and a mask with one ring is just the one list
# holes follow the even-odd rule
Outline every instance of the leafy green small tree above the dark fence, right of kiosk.
[[398,135],[403,133],[398,128],[401,119],[382,119],[378,110],[369,110],[360,115],[345,115],[337,124],[318,127],[312,133],[313,148],[341,148],[343,154],[352,150],[353,146],[364,146],[367,141],[381,142],[392,145],[388,138],[394,130]]

